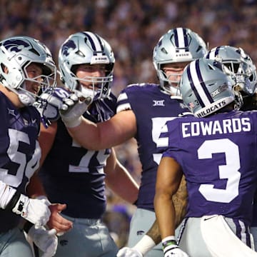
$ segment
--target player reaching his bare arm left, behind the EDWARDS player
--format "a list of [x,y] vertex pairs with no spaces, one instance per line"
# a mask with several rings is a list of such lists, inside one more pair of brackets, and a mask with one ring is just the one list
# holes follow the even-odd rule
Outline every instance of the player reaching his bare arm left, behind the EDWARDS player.
[[[69,133],[82,146],[101,149],[124,143],[136,138],[138,154],[142,164],[141,186],[139,188],[137,209],[133,214],[129,232],[129,248],[121,249],[119,256],[130,256],[130,248],[144,238],[151,248],[160,241],[158,234],[153,239],[145,236],[155,221],[153,197],[155,194],[156,171],[161,158],[158,145],[161,127],[167,121],[176,119],[188,112],[178,89],[183,68],[188,62],[206,54],[206,44],[198,34],[186,28],[176,28],[164,34],[153,50],[153,65],[156,68],[160,84],[132,84],[121,91],[118,99],[117,114],[99,124],[76,115],[77,110],[62,114]],[[183,186],[185,183],[183,183]],[[182,190],[183,191],[183,190]],[[186,194],[182,194],[180,203],[186,206]],[[179,208],[181,208],[178,205]],[[183,216],[183,215],[182,215]],[[179,223],[179,222],[178,222]],[[158,230],[156,230],[158,231]],[[143,247],[135,251],[146,256],[163,256],[161,243],[150,248]],[[133,250],[132,250],[133,251]],[[138,252],[137,251],[137,252]],[[128,252],[128,253],[126,253]]]

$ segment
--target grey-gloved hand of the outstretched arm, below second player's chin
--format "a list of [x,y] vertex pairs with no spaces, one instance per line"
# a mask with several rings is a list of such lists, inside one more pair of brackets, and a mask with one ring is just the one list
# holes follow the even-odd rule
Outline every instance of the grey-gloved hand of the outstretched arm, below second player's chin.
[[64,124],[67,128],[73,128],[81,124],[81,118],[84,112],[88,109],[91,104],[91,97],[86,99],[78,99],[74,101],[73,106],[69,106],[67,110],[60,110],[61,119],[64,121]]

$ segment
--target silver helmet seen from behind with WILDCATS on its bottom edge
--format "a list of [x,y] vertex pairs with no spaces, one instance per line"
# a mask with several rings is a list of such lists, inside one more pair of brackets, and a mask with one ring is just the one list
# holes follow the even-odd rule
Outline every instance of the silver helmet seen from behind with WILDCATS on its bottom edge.
[[241,107],[241,94],[234,91],[235,82],[227,72],[223,64],[211,59],[198,59],[186,66],[180,89],[194,116],[208,116],[233,101],[236,109]]

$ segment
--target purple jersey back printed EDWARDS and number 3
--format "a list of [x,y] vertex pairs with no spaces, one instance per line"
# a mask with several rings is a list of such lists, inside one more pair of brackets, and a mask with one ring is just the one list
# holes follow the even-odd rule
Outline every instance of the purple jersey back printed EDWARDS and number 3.
[[169,145],[163,156],[176,159],[186,176],[188,217],[220,214],[251,223],[256,124],[256,111],[231,111],[163,127]]

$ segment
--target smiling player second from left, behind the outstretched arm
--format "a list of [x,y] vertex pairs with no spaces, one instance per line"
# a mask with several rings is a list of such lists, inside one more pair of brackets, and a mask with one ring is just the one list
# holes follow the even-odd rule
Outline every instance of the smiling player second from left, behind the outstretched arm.
[[55,256],[116,256],[116,243],[101,221],[106,210],[105,183],[129,203],[138,197],[138,185],[117,160],[114,148],[91,151],[82,147],[69,135],[54,107],[72,92],[72,96],[90,99],[83,114],[86,119],[94,124],[110,119],[116,111],[116,97],[110,90],[114,62],[109,43],[90,31],[72,34],[59,50],[64,87],[56,89],[51,105],[41,112],[51,118],[51,125],[47,129],[42,126],[39,138],[39,176],[47,196],[50,201],[66,203],[61,215],[73,222],[73,228],[59,236]]

